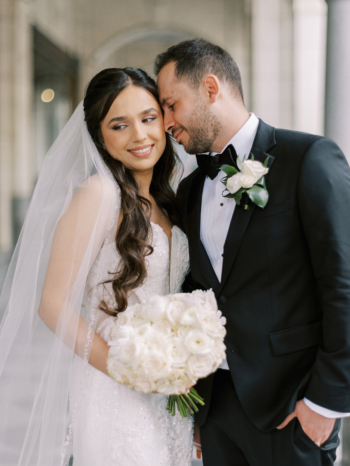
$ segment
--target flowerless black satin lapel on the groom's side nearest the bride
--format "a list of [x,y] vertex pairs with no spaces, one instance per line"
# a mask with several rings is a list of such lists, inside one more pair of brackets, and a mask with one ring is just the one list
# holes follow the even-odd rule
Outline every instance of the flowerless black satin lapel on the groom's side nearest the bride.
[[189,201],[187,205],[187,236],[189,240],[189,248],[193,252],[198,267],[205,276],[214,291],[218,291],[220,283],[217,275],[211,265],[208,254],[200,239],[200,225],[201,225],[201,208],[202,208],[202,192],[205,180],[205,174],[200,171],[199,174],[192,181],[189,190]]

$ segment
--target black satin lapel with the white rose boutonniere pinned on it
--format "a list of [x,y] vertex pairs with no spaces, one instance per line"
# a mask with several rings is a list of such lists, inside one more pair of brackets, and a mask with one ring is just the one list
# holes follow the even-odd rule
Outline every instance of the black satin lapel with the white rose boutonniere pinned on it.
[[[271,155],[266,154],[265,151],[271,149],[275,144],[274,128],[260,120],[251,150],[254,160],[259,160],[259,162],[264,163],[266,158],[268,158],[267,166],[270,168],[273,164],[274,158]],[[259,147],[257,147],[258,145]],[[268,173],[266,177],[268,177]],[[223,287],[227,280],[233,262],[236,259],[239,246],[243,240],[245,230],[255,208],[259,209],[260,207],[257,207],[255,204],[250,204],[248,210],[244,210],[240,206],[235,207],[224,244],[224,260],[220,288]]]

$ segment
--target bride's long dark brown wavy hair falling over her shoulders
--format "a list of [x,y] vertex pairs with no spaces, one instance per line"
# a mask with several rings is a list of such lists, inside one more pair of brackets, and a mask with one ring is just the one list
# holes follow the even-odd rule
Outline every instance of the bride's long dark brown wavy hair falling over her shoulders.
[[[140,195],[133,171],[127,169],[106,151],[100,125],[114,99],[130,85],[146,90],[159,102],[154,80],[142,69],[134,68],[104,69],[91,79],[84,98],[87,129],[121,192],[120,208],[123,218],[116,237],[120,263],[118,270],[110,272],[112,274],[111,280],[104,281],[104,284],[112,283],[116,308],[109,308],[104,300],[100,303],[100,309],[113,316],[126,309],[128,293],[132,289],[138,288],[146,279],[145,258],[153,252],[153,247],[149,244],[152,233],[149,223],[151,204]],[[149,191],[157,204],[165,209],[175,225],[180,223],[180,206],[170,186],[170,180],[178,163],[179,159],[173,149],[170,137],[166,134],[165,149],[161,158],[154,165]]]

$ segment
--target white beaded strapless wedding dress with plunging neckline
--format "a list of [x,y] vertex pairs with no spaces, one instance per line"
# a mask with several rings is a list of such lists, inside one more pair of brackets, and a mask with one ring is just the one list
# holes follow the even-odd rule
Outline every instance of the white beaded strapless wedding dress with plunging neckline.
[[[181,292],[189,270],[188,243],[173,226],[169,241],[160,226],[151,223],[154,252],[146,257],[147,278],[128,299],[132,305],[150,295]],[[112,229],[113,230],[113,229]],[[102,297],[112,298],[100,283],[118,267],[115,231],[107,235],[86,284],[86,320],[108,341],[115,317],[98,310]],[[170,243],[170,244],[169,244]],[[117,317],[118,318],[118,317]],[[84,382],[81,384],[81,375]],[[75,356],[70,378],[70,430],[74,466],[189,466],[192,459],[192,417],[172,417],[167,396],[141,393],[115,382]]]

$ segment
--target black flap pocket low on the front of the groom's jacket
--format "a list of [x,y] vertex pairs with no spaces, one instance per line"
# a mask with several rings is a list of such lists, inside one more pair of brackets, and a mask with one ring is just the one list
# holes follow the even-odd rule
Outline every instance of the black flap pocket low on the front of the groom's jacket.
[[322,323],[308,323],[290,329],[270,332],[269,339],[273,356],[281,356],[311,348],[322,341]]

